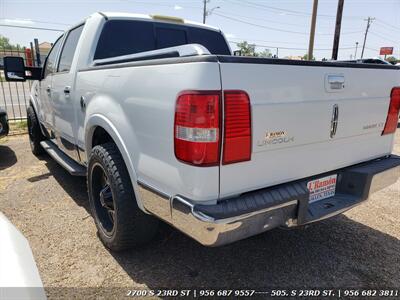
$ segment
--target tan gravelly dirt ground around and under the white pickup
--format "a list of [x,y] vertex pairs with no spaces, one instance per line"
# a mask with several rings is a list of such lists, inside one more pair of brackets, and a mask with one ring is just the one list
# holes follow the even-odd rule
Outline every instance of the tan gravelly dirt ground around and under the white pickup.
[[23,135],[0,140],[0,211],[29,240],[47,288],[400,287],[400,181],[306,228],[206,248],[163,226],[150,245],[115,254],[96,236],[85,179],[34,157]]

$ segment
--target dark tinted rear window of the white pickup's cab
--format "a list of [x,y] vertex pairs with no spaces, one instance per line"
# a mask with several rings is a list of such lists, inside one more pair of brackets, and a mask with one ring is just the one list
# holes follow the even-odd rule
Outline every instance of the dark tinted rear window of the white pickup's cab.
[[217,31],[147,21],[110,20],[100,34],[94,59],[197,43],[211,54],[230,55],[222,34]]

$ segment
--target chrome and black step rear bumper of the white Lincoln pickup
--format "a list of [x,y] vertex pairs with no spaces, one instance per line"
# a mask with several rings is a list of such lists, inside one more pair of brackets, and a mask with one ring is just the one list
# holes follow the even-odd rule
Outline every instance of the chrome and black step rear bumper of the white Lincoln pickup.
[[[307,182],[337,174],[336,194],[309,203]],[[298,226],[340,214],[397,181],[400,157],[389,156],[303,180],[202,205],[139,184],[146,210],[206,246],[220,246],[278,226]]]

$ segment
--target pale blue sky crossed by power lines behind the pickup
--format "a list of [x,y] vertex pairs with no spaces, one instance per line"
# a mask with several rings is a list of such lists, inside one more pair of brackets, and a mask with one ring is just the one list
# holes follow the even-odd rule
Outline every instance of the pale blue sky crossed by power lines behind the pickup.
[[[121,11],[162,14],[202,21],[202,0],[0,0],[0,24],[22,25],[64,30],[96,11]],[[219,7],[207,23],[221,28],[235,49],[234,42],[246,40],[259,50],[270,49],[279,57],[304,55],[308,47],[312,0],[210,0],[209,8]],[[337,0],[319,0],[315,56],[330,58]],[[400,0],[345,0],[339,59],[357,56],[366,27],[365,18],[374,17],[364,57],[376,57],[379,48],[394,47],[400,57]],[[53,42],[58,32],[8,28],[0,34],[14,43],[29,45]]]

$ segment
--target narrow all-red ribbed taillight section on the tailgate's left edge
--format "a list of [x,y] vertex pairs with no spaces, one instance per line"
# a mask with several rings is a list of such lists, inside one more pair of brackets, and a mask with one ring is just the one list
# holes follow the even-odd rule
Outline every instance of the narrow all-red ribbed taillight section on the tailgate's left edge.
[[250,99],[244,91],[224,93],[224,150],[222,164],[251,159]]

